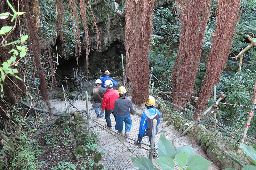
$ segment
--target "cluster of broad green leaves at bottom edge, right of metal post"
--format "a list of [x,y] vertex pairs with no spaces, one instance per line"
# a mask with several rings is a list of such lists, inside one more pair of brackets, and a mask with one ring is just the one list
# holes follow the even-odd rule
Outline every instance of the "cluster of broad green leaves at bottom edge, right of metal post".
[[[161,166],[163,170],[174,170],[173,159],[180,170],[186,166],[188,166],[186,170],[207,170],[212,162],[204,159],[202,156],[192,154],[191,151],[193,152],[193,149],[190,145],[178,148],[175,152],[172,143],[161,134],[158,141],[159,159],[154,161]],[[139,167],[139,170],[159,170],[158,168],[154,168],[153,163],[145,157],[139,159],[132,157],[132,161],[134,166]]]

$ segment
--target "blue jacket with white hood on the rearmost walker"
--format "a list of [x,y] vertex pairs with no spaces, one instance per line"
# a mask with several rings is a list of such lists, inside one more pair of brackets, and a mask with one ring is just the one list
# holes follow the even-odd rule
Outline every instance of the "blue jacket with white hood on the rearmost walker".
[[[139,133],[140,136],[146,135],[146,130],[148,129],[147,119],[149,118],[152,120],[154,117],[156,117],[157,114],[159,115],[159,123],[160,123],[161,113],[159,110],[157,110],[156,108],[145,109],[145,112],[142,113],[141,119],[140,119],[140,133]],[[157,126],[159,125],[159,123],[157,124]]]

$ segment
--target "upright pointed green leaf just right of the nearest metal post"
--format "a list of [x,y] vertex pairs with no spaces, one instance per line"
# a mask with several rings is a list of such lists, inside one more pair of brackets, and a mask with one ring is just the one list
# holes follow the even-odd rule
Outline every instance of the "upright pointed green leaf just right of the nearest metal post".
[[171,157],[172,159],[175,157],[175,149],[172,143],[168,139],[164,138],[162,134],[158,141],[158,156],[167,156]]

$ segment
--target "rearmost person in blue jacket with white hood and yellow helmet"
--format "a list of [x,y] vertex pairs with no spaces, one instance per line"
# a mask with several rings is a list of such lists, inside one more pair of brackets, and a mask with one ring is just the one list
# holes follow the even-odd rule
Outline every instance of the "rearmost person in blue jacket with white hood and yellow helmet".
[[[142,113],[141,119],[140,119],[140,132],[138,134],[137,141],[134,141],[135,145],[141,146],[140,142],[142,141],[142,138],[144,136],[148,136],[148,140],[151,143],[151,137],[152,137],[152,128],[153,128],[153,120],[156,119],[156,133],[158,129],[158,125],[161,121],[161,113],[159,110],[157,110],[155,106],[155,98],[153,96],[148,96],[148,101],[145,102],[145,106],[147,109],[145,109],[145,112]],[[155,144],[154,144],[155,145]],[[155,154],[153,155],[155,158]]]

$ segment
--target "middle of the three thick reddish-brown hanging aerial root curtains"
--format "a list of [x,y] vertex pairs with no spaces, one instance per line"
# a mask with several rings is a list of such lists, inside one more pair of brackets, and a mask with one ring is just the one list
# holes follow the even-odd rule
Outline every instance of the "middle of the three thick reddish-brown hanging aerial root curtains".
[[[200,62],[211,0],[177,0],[181,32],[177,59],[173,67],[173,102],[180,107],[193,93],[198,63]],[[188,94],[188,95],[186,95]]]

